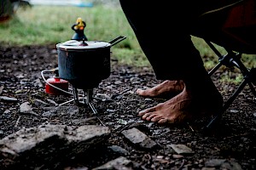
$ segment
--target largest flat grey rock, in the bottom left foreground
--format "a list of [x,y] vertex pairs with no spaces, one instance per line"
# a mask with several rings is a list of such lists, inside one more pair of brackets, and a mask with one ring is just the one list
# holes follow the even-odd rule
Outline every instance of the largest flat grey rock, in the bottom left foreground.
[[24,128],[0,140],[0,169],[22,166],[24,161],[47,166],[50,162],[63,161],[83,153],[101,144],[109,135],[108,127],[97,125]]

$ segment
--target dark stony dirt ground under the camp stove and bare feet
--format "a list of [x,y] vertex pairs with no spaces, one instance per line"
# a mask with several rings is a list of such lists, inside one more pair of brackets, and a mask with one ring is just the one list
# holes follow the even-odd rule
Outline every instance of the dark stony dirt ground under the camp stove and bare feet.
[[[0,101],[0,139],[15,133],[22,127],[37,127],[42,124],[65,124],[81,126],[84,124],[102,124],[101,122],[79,122],[73,120],[95,116],[90,107],[83,107],[79,114],[70,116],[55,116],[45,118],[40,116],[42,109],[33,105],[33,111],[39,116],[20,114],[20,105],[26,101],[40,99],[49,103],[49,99],[62,104],[72,95],[51,95],[44,91],[45,82],[41,71],[57,67],[55,45],[8,47],[0,45],[0,96],[17,99],[17,102]],[[94,150],[96,155],[86,153],[83,161],[70,159],[59,167],[86,167],[91,169],[117,157],[108,155],[104,148],[119,145],[129,154],[125,157],[133,162],[132,169],[255,169],[256,158],[256,103],[255,97],[246,86],[241,94],[218,120],[211,132],[204,133],[201,127],[207,124],[207,117],[183,125],[159,126],[143,122],[137,116],[138,111],[163,102],[163,99],[144,99],[135,91],[137,88],[153,87],[158,81],[151,67],[137,68],[131,65],[119,65],[117,60],[111,60],[111,75],[94,88],[94,98],[91,103],[97,111],[98,118],[105,126],[113,129],[113,134],[106,144]],[[96,73],[91,73],[96,74]],[[212,76],[216,86],[228,99],[237,88],[236,84],[223,83],[218,77],[230,74],[236,77],[238,73],[230,73],[221,69]],[[49,75],[50,76],[50,75]],[[203,88],[203,87],[202,87]],[[70,88],[71,89],[71,88]],[[68,103],[67,105],[74,105]],[[119,133],[129,127],[137,127],[160,145],[155,150],[138,150]],[[168,144],[186,144],[195,153],[186,156],[167,151]],[[212,159],[236,161],[241,168],[206,167],[206,162]],[[60,168],[61,169],[61,168]],[[63,169],[63,168],[62,168]],[[68,169],[68,168],[66,168]]]

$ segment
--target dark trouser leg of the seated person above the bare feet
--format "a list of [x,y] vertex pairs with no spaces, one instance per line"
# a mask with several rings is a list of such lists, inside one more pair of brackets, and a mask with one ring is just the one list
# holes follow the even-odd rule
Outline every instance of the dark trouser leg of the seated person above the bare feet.
[[172,6],[167,1],[120,0],[120,4],[157,79],[181,80],[201,72],[203,62],[189,34],[193,15],[199,12],[191,14],[189,4]]

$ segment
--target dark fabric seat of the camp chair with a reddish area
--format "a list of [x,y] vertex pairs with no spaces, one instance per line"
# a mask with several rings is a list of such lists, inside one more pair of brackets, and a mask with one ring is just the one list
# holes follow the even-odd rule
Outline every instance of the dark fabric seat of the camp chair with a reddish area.
[[244,0],[230,8],[203,14],[191,35],[242,54],[256,54],[256,2]]

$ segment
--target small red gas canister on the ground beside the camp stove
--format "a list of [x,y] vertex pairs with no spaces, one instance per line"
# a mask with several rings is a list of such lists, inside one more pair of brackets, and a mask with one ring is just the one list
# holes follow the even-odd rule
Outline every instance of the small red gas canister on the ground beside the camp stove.
[[[46,82],[47,83],[45,84],[45,92],[47,94],[55,94],[55,95],[66,94],[65,92],[61,91],[58,88],[61,88],[64,91],[68,91],[68,82],[59,77],[51,77],[47,79]],[[56,88],[52,87],[49,84],[55,86]]]

